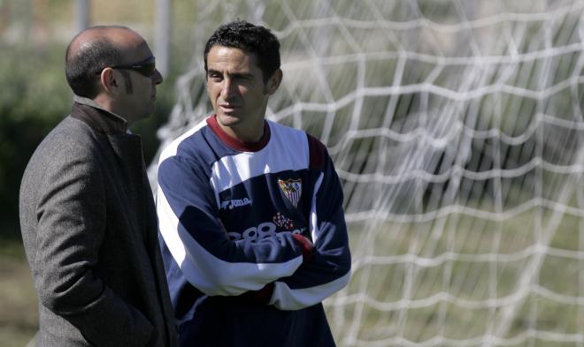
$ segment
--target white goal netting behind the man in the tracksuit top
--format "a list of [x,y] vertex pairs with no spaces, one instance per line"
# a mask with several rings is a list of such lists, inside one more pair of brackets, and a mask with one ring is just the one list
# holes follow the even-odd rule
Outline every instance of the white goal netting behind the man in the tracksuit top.
[[273,29],[268,117],[322,140],[345,192],[339,345],[584,346],[584,1],[201,3],[160,135],[211,111],[216,26]]

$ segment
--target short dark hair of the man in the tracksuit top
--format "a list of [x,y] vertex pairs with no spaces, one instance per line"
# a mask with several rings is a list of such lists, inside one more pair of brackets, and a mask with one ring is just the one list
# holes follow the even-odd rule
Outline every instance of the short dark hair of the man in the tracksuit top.
[[264,82],[280,69],[280,42],[264,26],[256,26],[245,20],[236,20],[222,26],[207,41],[204,48],[204,71],[207,72],[207,56],[213,46],[242,49],[256,55],[257,65],[264,75]]

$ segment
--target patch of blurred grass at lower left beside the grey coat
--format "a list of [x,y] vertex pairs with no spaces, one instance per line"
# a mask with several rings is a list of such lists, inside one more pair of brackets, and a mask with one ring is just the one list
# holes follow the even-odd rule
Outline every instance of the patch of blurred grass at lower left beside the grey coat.
[[38,329],[38,309],[32,275],[18,241],[0,240],[0,342],[23,347]]

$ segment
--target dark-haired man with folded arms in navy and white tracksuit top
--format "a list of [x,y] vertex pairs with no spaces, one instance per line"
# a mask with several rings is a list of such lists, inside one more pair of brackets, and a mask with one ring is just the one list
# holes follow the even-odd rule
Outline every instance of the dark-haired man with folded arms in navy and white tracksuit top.
[[166,147],[157,209],[181,346],[334,346],[321,301],[350,278],[327,149],[265,120],[280,43],[236,21],[207,41],[214,114]]

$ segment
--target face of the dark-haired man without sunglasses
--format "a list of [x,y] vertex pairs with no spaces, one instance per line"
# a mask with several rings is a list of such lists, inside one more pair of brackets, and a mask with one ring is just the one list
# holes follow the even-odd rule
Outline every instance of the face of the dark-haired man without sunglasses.
[[[281,74],[274,73],[281,78]],[[255,142],[264,131],[268,97],[280,85],[278,77],[264,83],[254,54],[214,46],[207,55],[207,92],[219,126],[235,139]],[[277,82],[277,83],[274,83]]]

